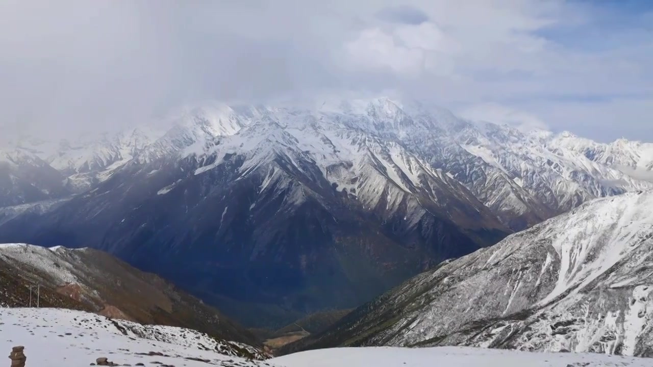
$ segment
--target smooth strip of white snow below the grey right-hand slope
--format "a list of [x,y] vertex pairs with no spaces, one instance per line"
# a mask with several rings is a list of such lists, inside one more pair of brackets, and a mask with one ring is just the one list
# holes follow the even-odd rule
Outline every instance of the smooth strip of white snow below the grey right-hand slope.
[[285,367],[645,367],[653,366],[653,359],[469,347],[367,347],[306,351],[278,357],[270,363]]

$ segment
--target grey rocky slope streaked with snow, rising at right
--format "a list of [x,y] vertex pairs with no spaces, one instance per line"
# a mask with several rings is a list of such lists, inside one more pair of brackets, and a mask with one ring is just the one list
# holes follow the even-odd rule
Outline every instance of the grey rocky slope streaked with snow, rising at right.
[[287,351],[471,345],[653,356],[653,191],[597,199],[440,264]]

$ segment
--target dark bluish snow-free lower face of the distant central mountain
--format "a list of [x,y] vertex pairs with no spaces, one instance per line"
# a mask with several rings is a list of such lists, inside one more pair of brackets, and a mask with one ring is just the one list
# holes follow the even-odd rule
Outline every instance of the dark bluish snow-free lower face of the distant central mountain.
[[[274,327],[302,313],[357,306],[507,233],[498,221],[473,225],[479,213],[462,200],[449,205],[468,217],[468,228],[427,195],[418,217],[410,207],[419,197],[402,199],[392,213],[384,202],[364,208],[314,163],[292,161],[270,157],[244,178],[242,155],[197,175],[193,159],[134,164],[54,212],[5,223],[2,238],[95,244],[247,325]],[[159,182],[176,185],[160,191]]]

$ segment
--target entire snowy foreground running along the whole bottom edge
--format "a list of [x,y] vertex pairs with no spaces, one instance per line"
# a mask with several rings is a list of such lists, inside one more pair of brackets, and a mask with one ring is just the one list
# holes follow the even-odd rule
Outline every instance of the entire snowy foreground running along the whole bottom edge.
[[[179,328],[161,327],[175,333]],[[653,359],[577,353],[528,353],[471,347],[334,348],[266,361],[251,361],[202,350],[180,335],[158,342],[123,334],[106,317],[53,308],[0,308],[0,353],[25,346],[27,367],[82,367],[99,357],[118,365],[176,367],[653,367]],[[150,352],[153,352],[153,355]],[[7,359],[7,365],[9,361]],[[158,362],[158,363],[157,363]]]

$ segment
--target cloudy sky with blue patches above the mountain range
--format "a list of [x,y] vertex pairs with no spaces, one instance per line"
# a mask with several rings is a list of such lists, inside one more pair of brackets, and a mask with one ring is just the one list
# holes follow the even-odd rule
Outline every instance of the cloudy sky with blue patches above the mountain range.
[[0,1],[3,135],[325,93],[653,142],[653,1]]

